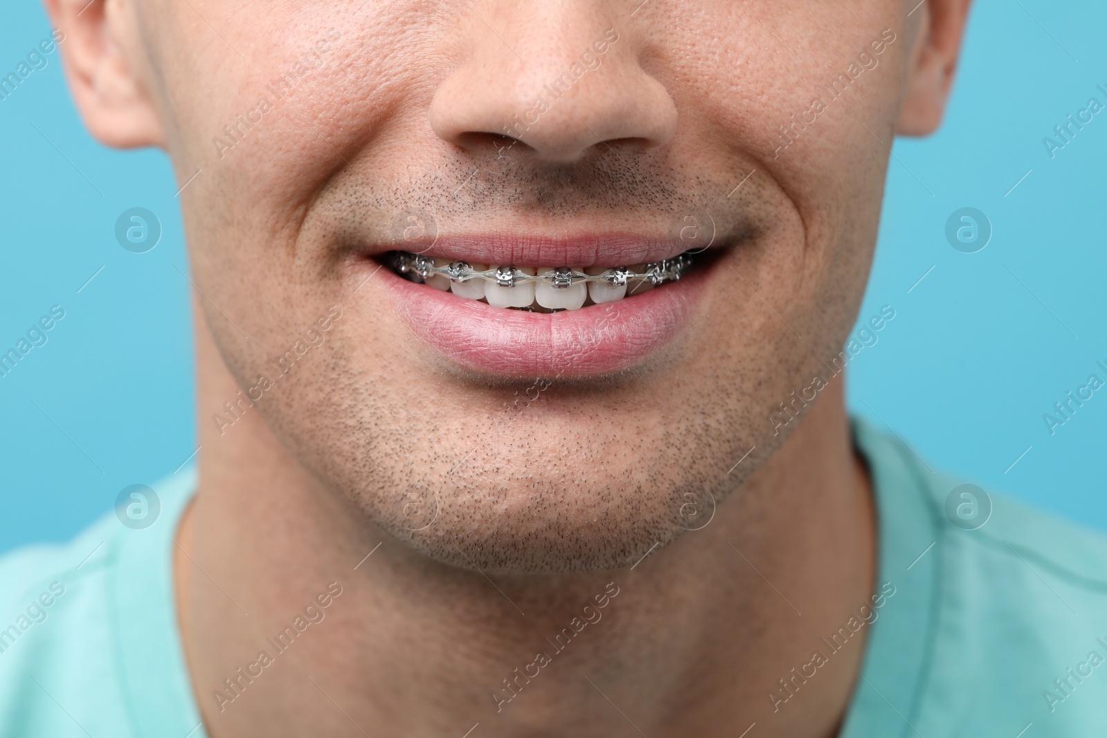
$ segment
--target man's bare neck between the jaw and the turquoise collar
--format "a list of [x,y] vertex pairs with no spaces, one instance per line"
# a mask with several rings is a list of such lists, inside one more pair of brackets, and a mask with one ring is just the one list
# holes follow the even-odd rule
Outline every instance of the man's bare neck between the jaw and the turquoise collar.
[[[199,332],[207,417],[238,387]],[[412,551],[256,410],[221,436],[199,427],[175,576],[213,738],[837,730],[866,630],[824,638],[870,602],[876,561],[840,378],[706,528],[633,568],[557,576],[488,579]],[[815,652],[826,663],[804,676]]]

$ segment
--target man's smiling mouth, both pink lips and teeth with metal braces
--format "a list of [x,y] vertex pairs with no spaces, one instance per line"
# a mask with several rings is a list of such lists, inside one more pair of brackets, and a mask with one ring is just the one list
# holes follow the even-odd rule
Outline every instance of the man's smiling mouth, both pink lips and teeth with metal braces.
[[722,252],[619,237],[406,246],[366,262],[415,336],[465,370],[519,378],[645,363],[684,332]]

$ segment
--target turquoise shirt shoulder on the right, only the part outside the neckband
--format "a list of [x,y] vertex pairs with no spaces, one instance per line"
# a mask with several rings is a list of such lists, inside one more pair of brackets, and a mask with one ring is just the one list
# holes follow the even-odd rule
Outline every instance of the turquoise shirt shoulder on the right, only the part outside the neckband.
[[[1016,730],[1087,735],[1107,723],[1107,538],[986,495],[981,528],[950,526],[942,537],[934,684],[961,689],[946,699],[963,714],[979,714],[989,695],[992,709],[1025,718]],[[971,697],[970,674],[991,689]]]

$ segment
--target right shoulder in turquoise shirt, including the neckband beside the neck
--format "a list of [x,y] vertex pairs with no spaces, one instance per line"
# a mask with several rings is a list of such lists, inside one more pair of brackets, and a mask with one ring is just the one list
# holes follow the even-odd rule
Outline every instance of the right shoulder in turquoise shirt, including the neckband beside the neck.
[[881,514],[897,527],[883,534],[913,538],[921,557],[899,579],[931,592],[919,632],[901,634],[928,642],[914,727],[1010,738],[1031,724],[1075,736],[1107,723],[1107,537],[933,470],[896,437],[857,433],[896,487],[878,505],[910,511]]

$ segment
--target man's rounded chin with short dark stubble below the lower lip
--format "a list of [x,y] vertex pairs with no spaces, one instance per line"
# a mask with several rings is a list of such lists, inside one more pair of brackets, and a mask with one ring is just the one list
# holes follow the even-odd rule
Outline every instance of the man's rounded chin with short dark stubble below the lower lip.
[[[413,552],[486,574],[632,567],[708,527],[739,474],[701,464],[723,447],[703,430],[609,426],[598,406],[541,398],[422,462],[376,468],[348,490],[355,507]],[[663,449],[692,447],[683,464]],[[417,446],[417,445],[416,445]],[[727,466],[733,465],[730,461]]]

